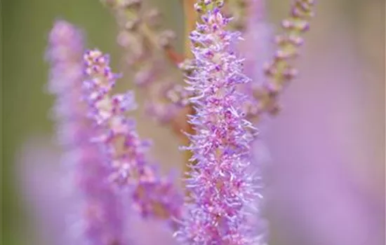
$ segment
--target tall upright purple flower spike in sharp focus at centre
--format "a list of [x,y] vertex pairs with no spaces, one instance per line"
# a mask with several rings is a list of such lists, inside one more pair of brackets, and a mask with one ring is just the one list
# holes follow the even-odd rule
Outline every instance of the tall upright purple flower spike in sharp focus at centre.
[[[248,173],[249,145],[256,130],[242,111],[246,96],[237,86],[250,81],[243,74],[242,59],[232,48],[241,37],[227,31],[230,21],[220,13],[222,1],[200,1],[201,22],[190,34],[195,69],[187,90],[196,111],[189,123],[192,166],[187,180],[190,200],[176,237],[187,244],[255,244],[248,224],[258,190]],[[259,243],[258,243],[259,244]]]

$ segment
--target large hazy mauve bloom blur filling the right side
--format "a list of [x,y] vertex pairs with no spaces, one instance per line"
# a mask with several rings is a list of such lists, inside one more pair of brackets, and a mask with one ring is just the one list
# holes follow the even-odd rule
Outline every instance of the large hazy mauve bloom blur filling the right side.
[[364,61],[335,21],[333,13],[316,18],[302,73],[265,132],[274,244],[385,244],[384,149],[369,134],[382,123],[369,116]]

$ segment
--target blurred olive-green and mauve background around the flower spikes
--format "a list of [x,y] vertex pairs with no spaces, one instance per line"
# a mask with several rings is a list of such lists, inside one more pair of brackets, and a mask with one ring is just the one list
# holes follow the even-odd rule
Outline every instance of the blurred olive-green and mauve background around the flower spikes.
[[[164,13],[165,25],[178,34],[178,49],[182,51],[181,1],[152,2]],[[279,20],[286,17],[290,1],[267,2],[269,22],[278,26]],[[57,18],[84,29],[88,46],[109,52],[113,66],[119,67],[114,18],[99,1],[1,1],[1,244],[39,244],[35,241],[29,199],[25,198],[25,186],[20,181],[23,176],[20,159],[28,162],[28,158],[21,156],[25,142],[39,139],[41,144],[49,144],[53,135],[53,122],[48,117],[53,97],[46,93],[48,65],[44,52],[48,31]],[[350,223],[357,209],[353,207],[352,214],[345,213],[347,216],[340,214],[351,210],[350,205],[360,200],[365,202],[361,209],[365,211],[359,219],[365,218],[373,225],[365,231],[371,238],[358,243],[363,237],[355,237],[355,232],[347,237],[352,237],[354,244],[382,245],[385,243],[385,1],[318,1],[317,17],[312,20],[302,54],[298,62],[302,75],[282,98],[284,111],[264,125],[263,142],[274,166],[272,173],[276,173],[269,180],[272,193],[276,193],[271,197],[276,202],[272,208],[268,207],[272,244],[286,244],[286,241],[318,244],[312,243],[312,239],[321,236],[330,237],[330,244],[340,241],[340,245],[352,245],[350,239],[338,237],[361,227],[343,229],[345,222],[340,219]],[[154,155],[164,169],[180,167],[179,142],[171,131],[154,125],[140,113],[136,116],[140,133],[154,139]],[[339,170],[335,170],[337,165]],[[330,190],[340,190],[346,182],[337,180],[347,176],[354,176],[354,186],[360,187],[354,193],[361,195],[357,199],[350,195],[350,201],[345,202],[342,200],[350,188],[335,196]],[[315,179],[319,181],[312,182]],[[288,184],[292,189],[284,188]],[[305,186],[310,188],[306,190]],[[288,215],[290,211],[277,203],[303,212]],[[304,211],[304,207],[312,208]],[[332,219],[312,223],[310,217],[318,215]],[[331,226],[336,223],[338,227]],[[301,235],[296,229],[288,229],[291,224],[298,229],[307,229],[308,225],[317,234]],[[335,231],[325,229],[328,226]],[[293,237],[293,234],[300,235]]]

